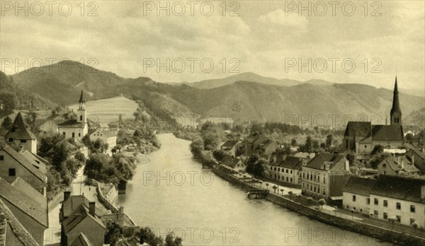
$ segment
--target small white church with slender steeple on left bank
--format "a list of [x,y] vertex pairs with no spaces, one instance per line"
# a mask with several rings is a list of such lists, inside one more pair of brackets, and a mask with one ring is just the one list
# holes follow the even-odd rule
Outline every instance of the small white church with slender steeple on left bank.
[[84,100],[83,90],[81,90],[77,119],[69,119],[66,122],[58,124],[57,127],[58,132],[63,134],[66,139],[72,138],[81,140],[89,132],[86,115],[86,101]]

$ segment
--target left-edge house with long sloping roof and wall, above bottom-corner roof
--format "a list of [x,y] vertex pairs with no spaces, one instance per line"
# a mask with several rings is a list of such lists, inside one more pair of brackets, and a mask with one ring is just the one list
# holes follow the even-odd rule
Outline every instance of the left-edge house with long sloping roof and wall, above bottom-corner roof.
[[[24,180],[9,183],[0,177],[0,200],[13,216],[24,225],[28,233],[44,245],[44,232],[49,227],[47,199],[39,192],[31,192]],[[23,192],[23,189],[27,189]]]

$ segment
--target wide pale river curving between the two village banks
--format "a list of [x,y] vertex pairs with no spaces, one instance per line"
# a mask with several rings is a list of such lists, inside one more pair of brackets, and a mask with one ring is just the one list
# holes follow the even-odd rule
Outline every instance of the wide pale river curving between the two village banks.
[[116,204],[142,227],[183,245],[386,245],[246,193],[193,160],[190,141],[159,134],[162,148],[138,165]]

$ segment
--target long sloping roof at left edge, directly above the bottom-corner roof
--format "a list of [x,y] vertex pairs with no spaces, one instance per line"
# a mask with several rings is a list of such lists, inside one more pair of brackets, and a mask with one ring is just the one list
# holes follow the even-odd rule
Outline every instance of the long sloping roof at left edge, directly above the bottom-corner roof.
[[39,192],[33,192],[31,196],[25,194],[11,184],[9,184],[6,180],[0,177],[0,198],[5,199],[10,202],[18,209],[26,213],[31,218],[38,221],[41,225],[44,225],[46,228],[49,227],[49,220],[47,217],[47,199],[44,197],[44,202],[40,203],[40,196],[42,194]]

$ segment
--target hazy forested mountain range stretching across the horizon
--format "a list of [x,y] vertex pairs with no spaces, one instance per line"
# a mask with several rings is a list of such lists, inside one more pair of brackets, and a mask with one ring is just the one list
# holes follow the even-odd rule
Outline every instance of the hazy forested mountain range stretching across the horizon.
[[[344,127],[345,121],[372,117],[373,123],[385,124],[392,105],[392,90],[385,88],[320,80],[280,80],[252,73],[196,83],[158,83],[146,77],[123,78],[76,61],[62,61],[28,69],[11,78],[18,86],[59,105],[76,103],[84,90],[87,100],[123,94],[142,100],[152,112],[237,115],[241,121],[309,121],[309,125],[325,121],[335,125],[332,119],[336,119],[336,127]],[[394,85],[394,81],[388,83]],[[399,99],[404,117],[424,107],[423,95],[399,93]]]

